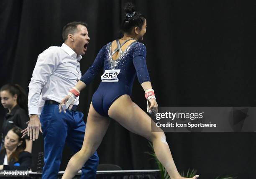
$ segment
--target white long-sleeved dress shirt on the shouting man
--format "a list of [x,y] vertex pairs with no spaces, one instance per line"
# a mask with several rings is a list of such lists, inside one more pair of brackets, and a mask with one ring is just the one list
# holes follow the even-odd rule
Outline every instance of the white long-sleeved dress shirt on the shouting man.
[[[31,82],[28,85],[29,115],[40,115],[41,105],[46,100],[61,102],[81,78],[79,63],[81,59],[82,56],[77,55],[65,43],[61,47],[51,46],[39,54]],[[74,105],[79,104],[78,99],[79,97]]]

